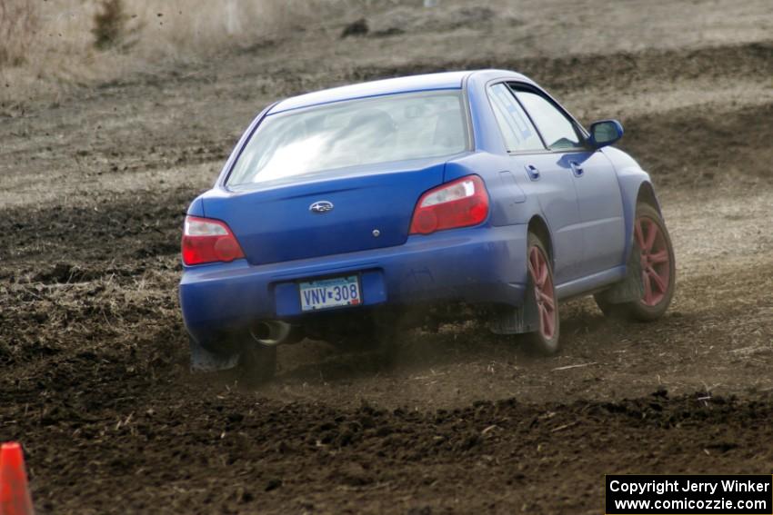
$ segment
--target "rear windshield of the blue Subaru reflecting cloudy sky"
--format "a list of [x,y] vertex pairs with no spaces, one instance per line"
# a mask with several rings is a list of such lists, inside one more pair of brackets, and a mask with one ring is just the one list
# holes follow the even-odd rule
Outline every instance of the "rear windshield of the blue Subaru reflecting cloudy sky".
[[460,90],[350,100],[266,116],[227,183],[457,154],[468,146]]

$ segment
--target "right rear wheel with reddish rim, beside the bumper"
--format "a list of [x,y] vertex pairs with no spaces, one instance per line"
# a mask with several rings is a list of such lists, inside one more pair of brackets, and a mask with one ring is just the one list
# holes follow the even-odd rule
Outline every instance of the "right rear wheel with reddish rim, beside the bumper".
[[560,319],[553,268],[547,258],[545,244],[534,233],[528,233],[527,310],[536,313],[537,331],[526,335],[529,348],[541,354],[558,351]]

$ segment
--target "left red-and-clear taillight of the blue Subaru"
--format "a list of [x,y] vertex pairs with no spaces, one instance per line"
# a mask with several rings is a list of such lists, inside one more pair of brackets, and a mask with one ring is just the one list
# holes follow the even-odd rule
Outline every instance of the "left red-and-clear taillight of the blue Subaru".
[[245,253],[225,222],[186,216],[183,230],[184,263],[231,262],[242,257],[245,257]]

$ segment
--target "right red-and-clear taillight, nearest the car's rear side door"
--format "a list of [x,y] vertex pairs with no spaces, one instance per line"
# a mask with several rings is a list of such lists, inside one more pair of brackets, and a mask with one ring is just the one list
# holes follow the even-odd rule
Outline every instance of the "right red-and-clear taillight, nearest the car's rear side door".
[[418,199],[411,234],[477,225],[488,216],[488,193],[483,179],[468,175],[429,190]]

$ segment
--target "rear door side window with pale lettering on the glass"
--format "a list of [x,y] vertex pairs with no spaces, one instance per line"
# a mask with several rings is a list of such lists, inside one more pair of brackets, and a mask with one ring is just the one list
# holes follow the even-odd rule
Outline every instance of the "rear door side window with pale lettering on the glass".
[[506,84],[494,84],[488,88],[488,98],[508,152],[545,150],[534,125]]

